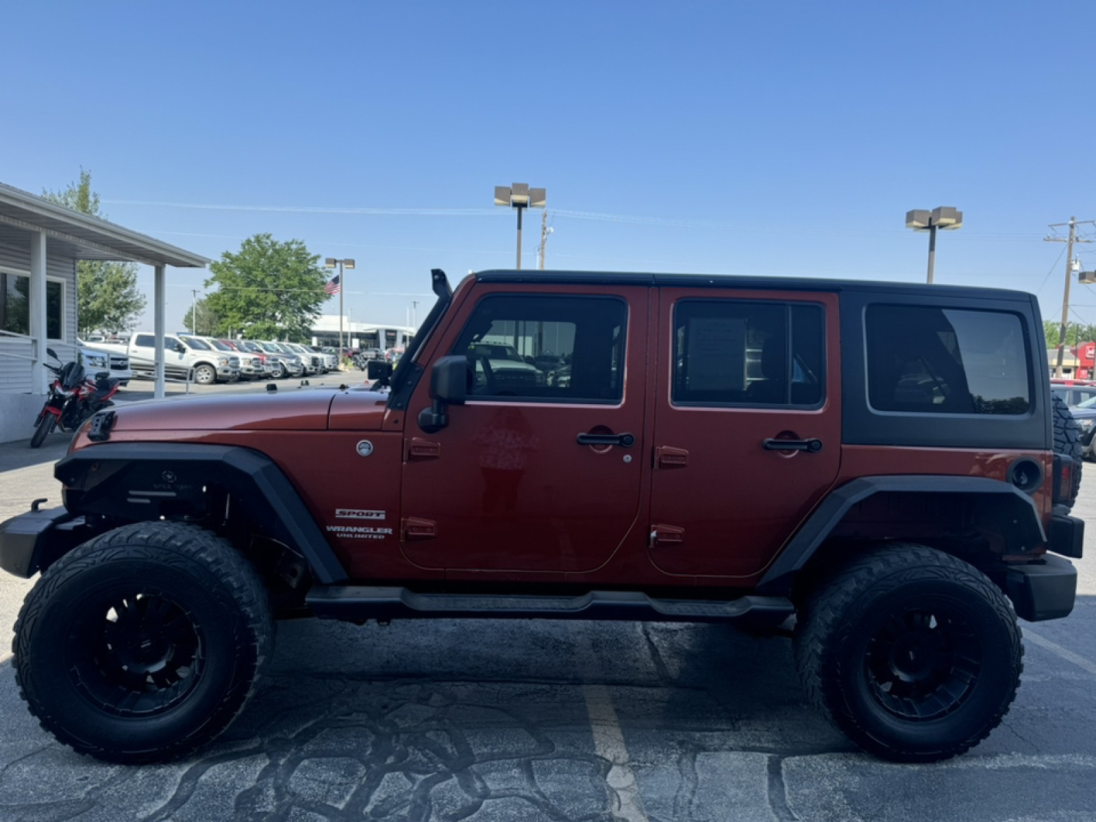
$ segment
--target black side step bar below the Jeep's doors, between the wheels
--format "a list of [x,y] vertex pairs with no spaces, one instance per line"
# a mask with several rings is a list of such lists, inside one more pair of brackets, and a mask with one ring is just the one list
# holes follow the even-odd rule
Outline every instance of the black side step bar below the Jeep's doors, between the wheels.
[[321,619],[624,619],[662,623],[732,623],[777,626],[795,613],[784,596],[730,601],[654,600],[631,591],[579,596],[422,594],[406,587],[317,585],[306,597]]

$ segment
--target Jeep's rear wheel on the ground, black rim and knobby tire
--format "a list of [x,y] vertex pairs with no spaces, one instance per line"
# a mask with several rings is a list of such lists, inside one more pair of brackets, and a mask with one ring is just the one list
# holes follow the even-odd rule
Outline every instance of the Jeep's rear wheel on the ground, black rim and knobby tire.
[[981,742],[1024,667],[1001,591],[920,545],[872,550],[814,592],[795,657],[811,701],[854,743],[895,762],[947,760]]

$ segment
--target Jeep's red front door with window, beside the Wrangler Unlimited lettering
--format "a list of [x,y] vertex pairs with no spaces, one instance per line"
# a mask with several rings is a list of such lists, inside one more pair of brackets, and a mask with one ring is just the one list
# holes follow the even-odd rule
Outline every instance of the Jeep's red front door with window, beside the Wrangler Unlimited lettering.
[[[455,579],[607,561],[639,521],[649,288],[477,284],[430,359],[468,358],[466,404],[423,432],[409,403],[401,538]],[[429,368],[429,361],[427,361]]]

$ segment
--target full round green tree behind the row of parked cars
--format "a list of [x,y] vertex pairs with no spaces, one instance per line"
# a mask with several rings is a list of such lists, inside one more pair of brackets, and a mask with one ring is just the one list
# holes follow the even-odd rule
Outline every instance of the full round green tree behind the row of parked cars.
[[205,301],[218,318],[218,332],[308,340],[328,298],[319,262],[300,240],[279,242],[269,233],[249,237],[236,253],[226,251],[209,265],[213,276],[205,283],[217,286]]

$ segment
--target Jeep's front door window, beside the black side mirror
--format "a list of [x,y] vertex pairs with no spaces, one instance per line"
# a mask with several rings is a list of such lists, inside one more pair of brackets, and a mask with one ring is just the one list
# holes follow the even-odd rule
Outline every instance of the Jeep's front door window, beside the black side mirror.
[[487,297],[453,353],[468,357],[472,398],[619,402],[626,317],[614,297]]

